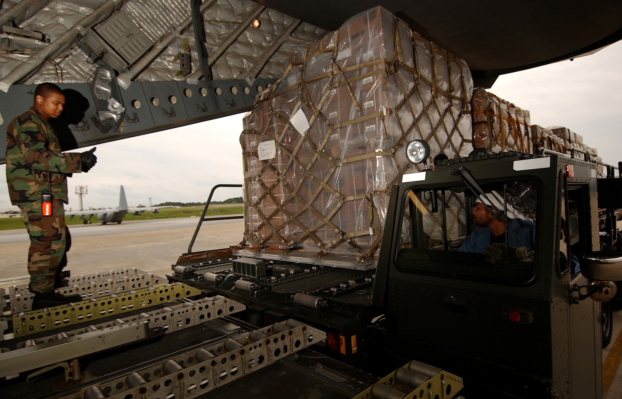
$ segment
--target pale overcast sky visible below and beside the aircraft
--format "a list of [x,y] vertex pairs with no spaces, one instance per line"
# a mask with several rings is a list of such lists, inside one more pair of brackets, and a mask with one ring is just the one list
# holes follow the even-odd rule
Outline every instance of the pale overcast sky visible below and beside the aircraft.
[[[608,163],[622,160],[622,42],[598,53],[503,75],[491,93],[531,111],[531,123],[565,126],[583,135]],[[85,208],[118,204],[123,185],[128,204],[205,201],[213,185],[242,183],[242,114],[97,145],[97,165],[68,181],[70,203],[78,208],[75,186],[88,186]],[[0,166],[4,175],[5,166]],[[219,189],[216,200],[240,196]],[[0,184],[0,209],[11,202]]]

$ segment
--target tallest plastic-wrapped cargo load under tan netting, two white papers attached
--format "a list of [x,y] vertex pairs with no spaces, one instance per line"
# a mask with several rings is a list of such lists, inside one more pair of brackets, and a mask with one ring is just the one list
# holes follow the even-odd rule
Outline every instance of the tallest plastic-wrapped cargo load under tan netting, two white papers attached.
[[382,7],[300,50],[244,117],[245,248],[375,265],[391,186],[471,150],[470,71]]

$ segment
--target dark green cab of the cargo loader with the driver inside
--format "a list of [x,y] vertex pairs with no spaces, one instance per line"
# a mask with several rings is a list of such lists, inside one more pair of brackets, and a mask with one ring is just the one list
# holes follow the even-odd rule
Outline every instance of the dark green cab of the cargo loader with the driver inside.
[[[600,398],[601,301],[615,295],[606,280],[616,277],[590,278],[595,259],[608,257],[599,252],[596,167],[510,152],[403,175],[391,193],[372,296],[386,303],[392,351],[440,357],[480,392]],[[503,214],[507,240],[476,226],[476,200]],[[495,240],[500,255],[473,252],[473,242]]]

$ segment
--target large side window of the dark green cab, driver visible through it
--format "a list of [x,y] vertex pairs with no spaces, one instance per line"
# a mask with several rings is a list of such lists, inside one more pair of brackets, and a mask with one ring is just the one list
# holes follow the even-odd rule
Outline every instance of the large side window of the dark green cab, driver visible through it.
[[397,265],[412,273],[526,283],[535,273],[537,190],[531,181],[412,188],[402,203]]

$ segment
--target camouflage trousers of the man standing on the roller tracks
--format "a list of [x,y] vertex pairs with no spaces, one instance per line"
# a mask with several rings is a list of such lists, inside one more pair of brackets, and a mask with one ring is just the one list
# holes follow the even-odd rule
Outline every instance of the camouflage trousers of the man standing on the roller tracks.
[[30,237],[29,290],[34,293],[51,291],[57,273],[60,277],[60,271],[67,265],[68,229],[63,203],[53,198],[51,216],[42,215],[41,200],[20,208]]

